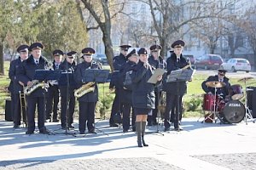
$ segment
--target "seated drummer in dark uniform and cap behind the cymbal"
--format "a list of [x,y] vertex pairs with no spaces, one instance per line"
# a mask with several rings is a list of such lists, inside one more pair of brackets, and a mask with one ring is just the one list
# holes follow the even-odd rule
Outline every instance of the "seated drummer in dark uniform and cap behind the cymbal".
[[225,77],[227,71],[218,69],[218,75],[208,77],[206,81],[201,83],[201,88],[207,94],[215,94],[221,96],[223,99],[229,97],[230,82],[229,78]]

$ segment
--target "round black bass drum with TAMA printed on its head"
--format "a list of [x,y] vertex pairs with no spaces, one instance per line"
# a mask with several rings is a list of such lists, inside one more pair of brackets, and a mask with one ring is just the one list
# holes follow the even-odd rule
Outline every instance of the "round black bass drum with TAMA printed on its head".
[[241,122],[246,114],[245,106],[239,100],[231,100],[224,106],[223,116],[224,121],[230,123]]

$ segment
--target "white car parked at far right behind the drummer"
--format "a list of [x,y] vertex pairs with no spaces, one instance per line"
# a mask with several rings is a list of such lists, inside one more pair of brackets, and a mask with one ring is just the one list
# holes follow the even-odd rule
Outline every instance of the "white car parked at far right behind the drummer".
[[220,65],[220,69],[226,71],[251,71],[251,65],[247,59],[229,59],[226,63]]

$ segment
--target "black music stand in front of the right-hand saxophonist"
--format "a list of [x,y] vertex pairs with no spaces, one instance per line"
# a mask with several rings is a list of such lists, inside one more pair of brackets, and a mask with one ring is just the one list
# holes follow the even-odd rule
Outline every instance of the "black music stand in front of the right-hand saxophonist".
[[[108,75],[109,75],[109,70],[87,69],[84,71],[84,75],[82,75],[82,79],[83,79],[83,82],[85,82],[85,83],[86,82],[104,83],[104,82],[108,82],[108,79],[109,79]],[[103,86],[103,88],[104,88],[104,86]],[[103,133],[108,136],[107,133],[104,133],[102,130],[100,130],[99,128],[96,127],[96,123],[94,123],[95,129],[97,131],[99,131],[100,133]]]

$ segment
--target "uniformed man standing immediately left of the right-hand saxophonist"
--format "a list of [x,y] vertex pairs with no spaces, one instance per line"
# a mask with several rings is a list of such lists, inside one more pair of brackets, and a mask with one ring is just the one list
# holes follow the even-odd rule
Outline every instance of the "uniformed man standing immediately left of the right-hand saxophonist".
[[[77,86],[77,84],[74,81],[74,71],[76,67],[76,63],[74,61],[75,54],[77,54],[77,52],[75,51],[68,52],[66,55],[66,59],[64,59],[64,61],[60,65],[61,78],[59,82],[59,88],[61,92],[61,128],[62,129],[74,128],[72,124],[73,113],[75,108],[74,90],[76,89],[76,86]],[[67,108],[68,108],[68,111],[67,111]]]

